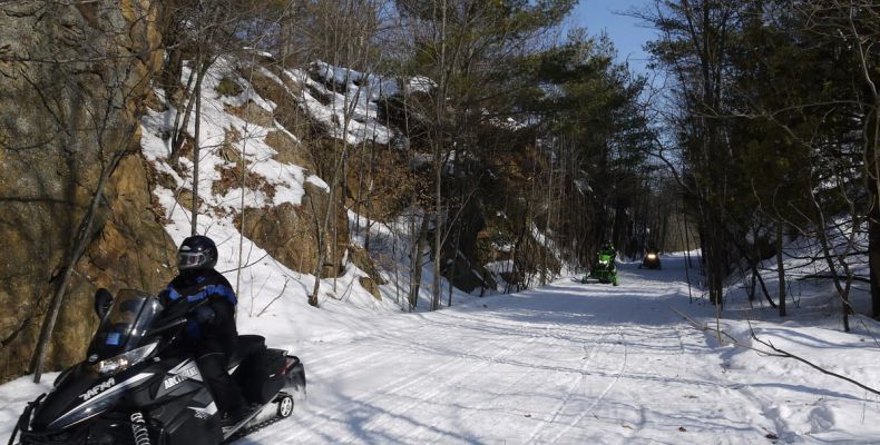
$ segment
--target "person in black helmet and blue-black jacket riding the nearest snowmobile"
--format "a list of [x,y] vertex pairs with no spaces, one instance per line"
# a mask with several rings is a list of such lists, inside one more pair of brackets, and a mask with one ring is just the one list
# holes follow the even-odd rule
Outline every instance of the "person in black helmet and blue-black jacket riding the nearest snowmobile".
[[[229,356],[236,347],[235,291],[226,278],[214,269],[217,246],[205,236],[184,239],[177,250],[179,275],[159,294],[164,307],[178,300],[196,305],[184,333],[185,347],[196,357],[196,364],[207,384],[217,409],[223,413],[221,424],[232,426],[247,415],[241,388],[226,372]],[[183,303],[183,301],[180,301]]]

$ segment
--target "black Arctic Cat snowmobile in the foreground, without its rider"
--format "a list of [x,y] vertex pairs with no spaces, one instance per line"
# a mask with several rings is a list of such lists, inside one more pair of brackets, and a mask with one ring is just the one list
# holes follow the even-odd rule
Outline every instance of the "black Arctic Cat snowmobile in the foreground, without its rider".
[[163,308],[155,296],[130,289],[113,304],[96,298],[101,323],[88,358],[28,404],[9,444],[18,435],[21,445],[216,445],[290,416],[294,394],[305,393],[302,363],[266,348],[261,336],[242,335],[229,372],[252,409],[221,427],[195,359],[179,345],[193,308]]

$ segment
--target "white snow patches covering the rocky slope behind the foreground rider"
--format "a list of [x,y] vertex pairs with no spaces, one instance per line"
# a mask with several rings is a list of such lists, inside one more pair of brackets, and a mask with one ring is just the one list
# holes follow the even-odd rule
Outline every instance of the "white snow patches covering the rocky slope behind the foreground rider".
[[[408,294],[409,287],[407,279],[392,278],[391,275],[392,270],[409,268],[409,240],[404,222],[373,224],[366,227],[363,217],[353,211],[348,212],[350,224],[352,227],[358,225],[361,234],[353,234],[351,245],[363,247],[362,234],[371,230],[374,239],[388,238],[389,231],[394,231],[395,243],[400,246],[393,255],[390,251],[371,251],[374,257],[384,255],[392,258],[384,268],[381,264],[379,268],[379,273],[389,283],[379,287],[379,293],[384,298],[374,298],[359,280],[366,273],[346,261],[343,276],[325,279],[322,284],[322,289],[329,289],[321,293],[319,298],[322,308],[327,309],[322,313],[313,313],[305,304],[314,286],[313,275],[291,270],[246,237],[241,237],[235,218],[241,214],[242,207],[263,209],[284,204],[300,206],[307,184],[329,190],[324,178],[311,174],[307,168],[275,159],[277,151],[268,144],[271,132],[283,132],[296,144],[300,144],[300,139],[291,132],[293,129],[286,129],[280,123],[278,120],[283,119],[275,115],[278,103],[261,97],[251,81],[258,76],[274,82],[274,88],[280,91],[275,100],[285,100],[299,107],[310,119],[321,123],[330,136],[355,146],[364,140],[385,144],[392,136],[391,129],[377,121],[377,100],[401,90],[430,88],[430,83],[424,79],[411,79],[401,89],[394,79],[364,75],[323,62],[315,62],[309,71],[282,69],[280,76],[285,78],[282,79],[264,67],[252,65],[253,60],[246,62],[242,65],[234,58],[221,58],[207,71],[202,85],[203,117],[198,138],[202,147],[198,196],[203,204],[199,206],[197,231],[212,237],[218,244],[221,259],[217,269],[224,271],[241,288],[239,325],[244,326],[244,330],[253,326],[255,332],[271,334],[271,328],[265,330],[266,326],[271,326],[265,323],[267,317],[277,317],[302,330],[323,323],[334,324],[333,317],[327,313],[399,312],[401,307],[405,307],[400,295]],[[188,77],[189,70],[185,68],[182,83],[186,83]],[[223,87],[228,85],[234,85],[236,89],[224,90]],[[292,88],[297,91],[294,92]],[[234,96],[228,92],[231,89],[236,92]],[[157,90],[156,98],[160,100],[164,97],[164,92]],[[319,100],[319,97],[322,99]],[[166,230],[179,244],[190,231],[192,197],[184,198],[182,192],[189,194],[193,188],[193,161],[183,156],[179,158],[180,168],[172,166],[169,135],[173,125],[183,120],[177,118],[182,110],[168,105],[164,108],[165,111],[148,110],[144,117],[141,147],[145,158],[155,170],[168,178],[160,181],[154,194],[163,217],[167,220]],[[255,113],[258,119],[243,119],[242,110],[248,109],[255,112],[244,113]],[[188,122],[185,131],[190,136],[195,135],[195,118]],[[255,181],[256,187],[247,186],[242,189],[236,182],[215,189],[216,184],[228,184],[228,178],[223,175],[236,171],[242,159],[247,165],[248,181],[251,178],[258,178]],[[305,230],[311,234],[311,226]],[[377,249],[383,249],[381,243],[372,244],[372,250]],[[241,275],[239,261],[246,266],[241,269]],[[430,270],[431,265],[426,265],[423,283],[431,283]],[[447,295],[449,284],[446,279],[441,281],[443,295]],[[424,301],[430,301],[430,286],[422,287],[419,309],[429,307]],[[456,290],[453,298],[460,301],[468,296]],[[306,313],[312,315],[305,315]],[[317,318],[317,322],[310,317]]]

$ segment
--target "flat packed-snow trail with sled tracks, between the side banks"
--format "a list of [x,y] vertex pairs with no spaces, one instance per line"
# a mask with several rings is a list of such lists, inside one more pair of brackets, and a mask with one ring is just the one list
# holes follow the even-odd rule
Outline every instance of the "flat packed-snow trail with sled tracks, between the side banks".
[[688,306],[681,259],[664,266],[307,345],[307,400],[238,443],[769,443],[762,404],[669,309]]

